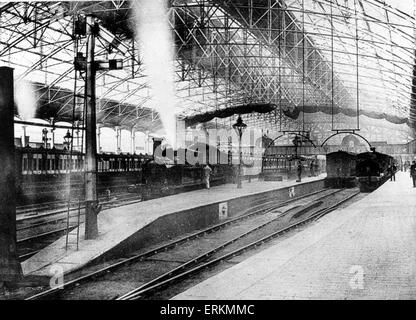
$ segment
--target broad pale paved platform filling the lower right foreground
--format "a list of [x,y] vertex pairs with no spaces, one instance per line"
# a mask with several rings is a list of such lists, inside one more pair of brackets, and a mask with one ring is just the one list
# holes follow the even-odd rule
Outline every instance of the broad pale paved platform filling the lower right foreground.
[[415,299],[409,173],[174,299]]

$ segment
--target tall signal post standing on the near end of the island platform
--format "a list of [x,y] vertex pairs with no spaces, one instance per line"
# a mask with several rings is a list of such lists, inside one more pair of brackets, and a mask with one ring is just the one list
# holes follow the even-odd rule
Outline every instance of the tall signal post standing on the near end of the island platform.
[[96,110],[95,110],[95,21],[87,16],[87,70],[85,81],[85,142],[86,142],[86,179],[85,179],[85,239],[98,236],[98,198],[97,198],[97,138],[96,138]]

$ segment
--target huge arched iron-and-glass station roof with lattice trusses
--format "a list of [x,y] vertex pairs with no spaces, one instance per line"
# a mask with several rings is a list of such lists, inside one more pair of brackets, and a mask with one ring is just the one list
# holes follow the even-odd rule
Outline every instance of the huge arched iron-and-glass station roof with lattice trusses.
[[[131,6],[0,2],[0,65],[15,69],[16,83],[31,82],[36,117],[82,120],[84,80],[73,62],[86,40],[74,27],[93,14],[116,36],[98,39],[96,59],[124,62],[97,74],[98,122],[161,127]],[[323,112],[413,126],[413,0],[173,0],[167,14],[175,113],[187,125],[250,114],[262,126]]]

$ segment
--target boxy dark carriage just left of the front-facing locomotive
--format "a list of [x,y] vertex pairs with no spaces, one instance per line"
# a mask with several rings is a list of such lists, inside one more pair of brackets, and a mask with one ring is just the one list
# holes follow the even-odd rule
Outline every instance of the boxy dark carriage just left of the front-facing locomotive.
[[337,151],[326,155],[325,186],[331,188],[353,188],[356,181],[357,154]]

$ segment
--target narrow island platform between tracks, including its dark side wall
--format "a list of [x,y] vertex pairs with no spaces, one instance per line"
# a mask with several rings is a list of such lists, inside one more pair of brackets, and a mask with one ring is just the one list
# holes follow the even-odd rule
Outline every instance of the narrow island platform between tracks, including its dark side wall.
[[[62,237],[22,262],[23,273],[26,276],[49,277],[59,267],[64,273],[69,273],[105,254],[111,254],[114,250],[131,248],[137,243],[148,241],[149,238],[153,239],[161,235],[174,237],[181,232],[189,232],[217,223],[219,204],[227,203],[227,210],[230,216],[233,216],[247,207],[252,196],[268,192],[274,196],[278,195],[275,191],[282,190],[287,198],[287,188],[292,186],[296,186],[295,190],[299,190],[300,195],[323,188],[324,178],[325,174],[302,178],[301,183],[255,180],[250,183],[243,182],[242,189],[237,189],[235,184],[226,184],[209,190],[190,191],[104,210],[98,215],[97,239],[85,240],[82,224],[78,251],[75,250],[75,246],[65,250],[65,237]],[[76,230],[72,234],[74,232]],[[54,269],[51,269],[52,266]]]

